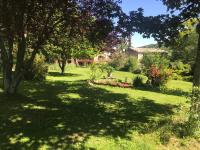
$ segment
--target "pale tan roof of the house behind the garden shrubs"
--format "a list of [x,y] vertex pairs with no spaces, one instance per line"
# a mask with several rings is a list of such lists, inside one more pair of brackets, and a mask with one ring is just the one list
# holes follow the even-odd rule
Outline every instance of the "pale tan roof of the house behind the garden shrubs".
[[129,48],[131,51],[135,51],[137,53],[166,53],[165,50],[161,50],[158,48],[135,48],[131,47]]

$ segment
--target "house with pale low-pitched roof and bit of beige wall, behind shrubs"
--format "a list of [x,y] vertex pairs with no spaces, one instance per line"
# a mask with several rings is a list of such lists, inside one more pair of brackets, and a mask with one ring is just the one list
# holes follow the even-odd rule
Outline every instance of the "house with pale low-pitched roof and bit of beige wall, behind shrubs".
[[155,54],[155,53],[167,53],[165,50],[161,50],[161,49],[158,49],[158,48],[134,48],[134,47],[131,47],[131,48],[128,48],[126,50],[126,53],[130,56],[134,56],[138,59],[138,61],[140,61],[144,54]]

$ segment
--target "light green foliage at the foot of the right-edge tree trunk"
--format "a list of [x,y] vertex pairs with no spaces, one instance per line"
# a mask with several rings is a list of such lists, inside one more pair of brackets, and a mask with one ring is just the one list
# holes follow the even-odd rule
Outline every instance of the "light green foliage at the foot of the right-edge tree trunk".
[[193,88],[189,103],[187,134],[200,138],[200,89],[198,87]]

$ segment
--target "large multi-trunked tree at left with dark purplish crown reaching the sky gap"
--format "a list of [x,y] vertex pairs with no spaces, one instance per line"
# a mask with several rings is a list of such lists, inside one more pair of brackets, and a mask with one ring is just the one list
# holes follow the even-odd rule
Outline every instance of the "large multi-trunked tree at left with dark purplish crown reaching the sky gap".
[[[24,72],[58,26],[84,25],[81,29],[91,30],[105,20],[111,23],[121,13],[118,3],[118,0],[0,0],[4,91],[16,92]],[[93,23],[87,21],[88,15],[94,17]]]

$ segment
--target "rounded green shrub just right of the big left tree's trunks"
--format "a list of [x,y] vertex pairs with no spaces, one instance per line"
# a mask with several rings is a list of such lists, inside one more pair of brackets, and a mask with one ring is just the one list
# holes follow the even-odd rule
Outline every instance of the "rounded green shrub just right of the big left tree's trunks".
[[36,55],[33,65],[28,68],[25,65],[25,80],[45,80],[48,73],[48,66],[45,64],[45,58],[41,55]]

